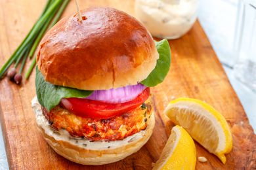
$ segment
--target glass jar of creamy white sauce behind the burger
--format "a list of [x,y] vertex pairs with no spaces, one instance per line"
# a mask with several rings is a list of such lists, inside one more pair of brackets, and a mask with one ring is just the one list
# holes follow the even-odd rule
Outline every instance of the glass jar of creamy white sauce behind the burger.
[[198,0],[136,0],[135,14],[154,37],[177,39],[196,21]]

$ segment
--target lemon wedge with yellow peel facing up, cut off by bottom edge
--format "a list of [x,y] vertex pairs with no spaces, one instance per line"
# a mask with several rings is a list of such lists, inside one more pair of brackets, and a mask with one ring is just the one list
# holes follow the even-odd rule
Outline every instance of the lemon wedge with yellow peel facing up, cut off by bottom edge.
[[181,126],[175,126],[156,161],[154,169],[195,169],[196,146],[188,132]]

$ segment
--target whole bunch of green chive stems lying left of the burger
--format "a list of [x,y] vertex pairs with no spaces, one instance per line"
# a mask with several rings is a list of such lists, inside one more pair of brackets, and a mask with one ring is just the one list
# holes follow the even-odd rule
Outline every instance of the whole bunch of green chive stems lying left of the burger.
[[[28,35],[26,35],[24,41],[22,41],[22,43],[18,46],[18,48],[16,48],[16,50],[14,51],[12,56],[8,59],[8,61],[3,65],[3,67],[1,67],[0,78],[5,74],[7,69],[9,69],[9,67],[12,65],[12,63],[14,63],[14,61],[16,61],[15,67],[18,67],[18,63],[20,63],[21,59],[22,59],[22,63],[20,66],[19,73],[22,73],[22,70],[24,69],[24,65],[26,64],[26,59],[28,58],[28,56],[30,57],[33,56],[39,42],[41,41],[41,38],[43,37],[45,31],[47,30],[47,27],[52,27],[54,24],[56,24],[56,22],[58,22],[60,16],[62,15],[62,12],[68,5],[69,1],[70,0],[64,0],[63,3],[61,0],[47,1],[47,4],[45,5],[45,9],[43,10],[40,18],[33,25]],[[53,21],[51,22],[51,20]],[[33,67],[35,66],[35,63],[36,63],[36,58],[33,58],[32,64],[30,65],[28,72],[25,75],[26,79],[29,78],[33,70]]]

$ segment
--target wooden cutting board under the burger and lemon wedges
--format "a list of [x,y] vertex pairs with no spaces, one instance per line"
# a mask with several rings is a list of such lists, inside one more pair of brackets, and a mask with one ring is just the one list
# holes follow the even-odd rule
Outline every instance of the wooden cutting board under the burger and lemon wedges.
[[[133,15],[134,1],[81,0],[81,9],[110,6]],[[28,33],[43,10],[44,0],[0,0],[0,66]],[[75,11],[71,1],[64,16]],[[172,50],[171,71],[163,83],[152,89],[156,127],[148,143],[125,160],[102,166],[83,166],[58,156],[44,141],[35,125],[31,103],[35,95],[35,72],[21,86],[7,78],[0,81],[0,118],[7,158],[11,169],[151,169],[160,157],[173,124],[163,115],[171,99],[194,97],[202,99],[222,112],[230,129],[234,147],[223,165],[196,143],[196,169],[255,169],[256,136],[244,109],[224,73],[202,27],[198,22],[181,39],[169,41]],[[28,65],[27,65],[28,66]],[[28,69],[28,67],[26,67]]]

